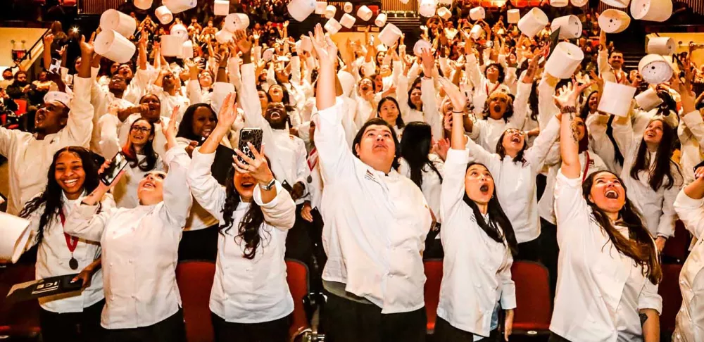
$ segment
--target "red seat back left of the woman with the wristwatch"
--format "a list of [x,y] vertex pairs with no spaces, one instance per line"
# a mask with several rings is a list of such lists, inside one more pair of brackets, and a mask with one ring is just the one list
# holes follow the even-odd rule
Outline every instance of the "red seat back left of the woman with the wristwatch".
[[188,342],[213,341],[209,302],[214,277],[215,262],[212,261],[184,261],[176,267]]

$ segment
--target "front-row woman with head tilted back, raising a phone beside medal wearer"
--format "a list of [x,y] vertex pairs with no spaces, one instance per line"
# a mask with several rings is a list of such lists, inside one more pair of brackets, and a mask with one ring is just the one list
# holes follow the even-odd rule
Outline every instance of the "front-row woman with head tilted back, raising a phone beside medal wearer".
[[176,262],[191,208],[190,160],[176,142],[177,114],[175,108],[163,132],[169,172],[150,172],[139,182],[137,208],[98,213],[97,198],[109,189],[100,184],[66,219],[67,233],[100,241],[103,248],[103,341],[185,341]]

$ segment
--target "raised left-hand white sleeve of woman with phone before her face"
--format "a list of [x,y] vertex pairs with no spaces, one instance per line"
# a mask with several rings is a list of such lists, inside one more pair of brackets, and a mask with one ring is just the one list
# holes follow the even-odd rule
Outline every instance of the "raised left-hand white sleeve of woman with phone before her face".
[[188,186],[196,201],[222,224],[222,208],[225,206],[225,188],[210,172],[215,160],[215,152],[203,154],[200,147],[193,150],[193,158],[188,169]]

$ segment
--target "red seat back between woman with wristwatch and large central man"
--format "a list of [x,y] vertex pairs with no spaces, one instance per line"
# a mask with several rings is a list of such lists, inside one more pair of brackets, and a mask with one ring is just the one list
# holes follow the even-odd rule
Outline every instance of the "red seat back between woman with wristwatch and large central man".
[[310,291],[306,264],[298,260],[287,259],[286,281],[289,283],[291,297],[294,298],[294,317],[289,329],[289,336],[295,336],[297,331],[303,331],[303,329],[310,327],[306,318],[306,310],[303,309],[303,298]]

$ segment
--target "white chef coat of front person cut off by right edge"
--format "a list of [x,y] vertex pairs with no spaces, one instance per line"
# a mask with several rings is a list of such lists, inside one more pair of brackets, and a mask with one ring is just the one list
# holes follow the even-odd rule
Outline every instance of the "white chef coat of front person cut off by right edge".
[[682,307],[677,312],[672,341],[704,341],[704,200],[694,199],[684,190],[677,194],[674,209],[689,232],[698,241],[679,273],[679,289],[682,291]]

